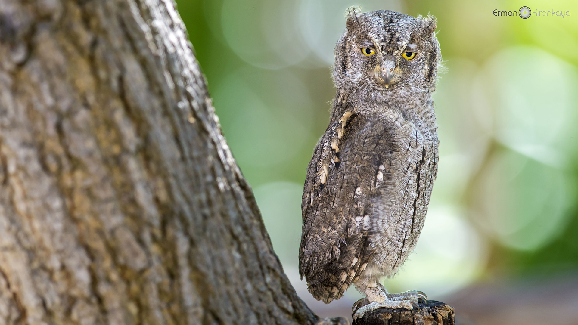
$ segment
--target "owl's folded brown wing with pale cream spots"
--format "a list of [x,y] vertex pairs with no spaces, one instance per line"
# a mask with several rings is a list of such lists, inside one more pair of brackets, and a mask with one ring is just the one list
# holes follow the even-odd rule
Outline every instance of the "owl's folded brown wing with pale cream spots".
[[328,304],[339,299],[369,261],[372,198],[388,183],[386,126],[346,111],[317,143],[303,189],[299,275]]

